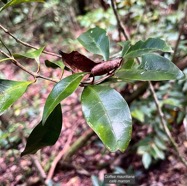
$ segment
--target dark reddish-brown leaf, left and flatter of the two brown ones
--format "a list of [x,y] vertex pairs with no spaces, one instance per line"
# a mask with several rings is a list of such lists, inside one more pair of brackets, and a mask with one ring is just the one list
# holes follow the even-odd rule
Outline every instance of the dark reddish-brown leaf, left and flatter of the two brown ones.
[[62,55],[64,64],[75,73],[91,72],[92,68],[99,64],[77,51],[73,51],[69,54],[59,51],[59,54]]

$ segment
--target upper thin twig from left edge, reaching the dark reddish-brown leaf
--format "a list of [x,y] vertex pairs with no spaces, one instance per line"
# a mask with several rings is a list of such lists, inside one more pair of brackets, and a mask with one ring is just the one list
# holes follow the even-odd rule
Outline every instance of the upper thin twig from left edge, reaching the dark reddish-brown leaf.
[[[13,39],[16,40],[16,42],[26,46],[26,47],[29,47],[29,48],[33,48],[33,49],[39,49],[38,47],[35,47],[29,43],[26,43],[24,41],[21,41],[20,39],[18,39],[16,36],[14,36],[12,33],[10,33],[8,31],[8,29],[6,29],[5,27],[3,27],[2,25],[0,25],[0,29],[2,29],[6,34],[8,34],[9,36],[11,36]],[[48,55],[51,55],[51,56],[56,56],[56,57],[61,57],[59,54],[56,54],[56,53],[53,53],[53,52],[49,52],[49,51],[46,51],[46,50],[43,50],[42,53],[44,54],[48,54]]]

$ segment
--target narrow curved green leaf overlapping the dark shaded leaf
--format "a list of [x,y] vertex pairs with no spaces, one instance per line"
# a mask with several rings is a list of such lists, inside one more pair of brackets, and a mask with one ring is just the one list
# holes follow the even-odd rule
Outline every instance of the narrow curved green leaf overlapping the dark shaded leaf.
[[58,82],[49,94],[43,111],[44,124],[54,108],[65,98],[71,95],[79,86],[85,73],[76,73]]

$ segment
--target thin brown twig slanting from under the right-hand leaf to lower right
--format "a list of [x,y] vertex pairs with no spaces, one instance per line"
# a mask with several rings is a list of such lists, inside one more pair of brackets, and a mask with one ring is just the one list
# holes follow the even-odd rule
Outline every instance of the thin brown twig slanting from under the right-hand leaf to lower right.
[[162,127],[164,128],[164,131],[165,133],[167,134],[171,144],[173,145],[175,151],[177,152],[177,155],[179,157],[179,159],[181,160],[181,162],[187,167],[187,161],[184,159],[184,157],[180,154],[180,151],[178,149],[178,146],[177,146],[177,143],[175,142],[175,140],[173,139],[171,133],[170,133],[170,130],[169,128],[167,127],[167,123],[166,123],[166,120],[164,119],[164,113],[162,112],[162,109],[160,107],[160,103],[159,103],[159,100],[157,98],[157,95],[156,95],[156,92],[154,90],[154,87],[152,85],[152,83],[149,81],[149,88],[151,90],[151,93],[153,95],[153,98],[154,98],[154,102],[156,104],[156,107],[157,107],[157,111],[158,111],[158,115],[160,117],[160,121],[161,121],[161,124],[162,124]]

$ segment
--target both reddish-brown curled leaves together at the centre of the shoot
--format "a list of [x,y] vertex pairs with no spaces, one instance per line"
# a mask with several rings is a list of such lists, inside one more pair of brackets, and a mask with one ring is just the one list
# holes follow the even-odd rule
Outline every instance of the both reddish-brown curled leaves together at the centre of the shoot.
[[59,54],[62,56],[64,64],[73,72],[88,72],[93,76],[100,76],[115,71],[120,67],[123,60],[120,57],[114,60],[96,63],[77,51],[69,54],[59,51]]

